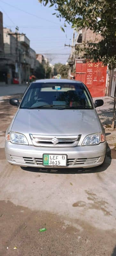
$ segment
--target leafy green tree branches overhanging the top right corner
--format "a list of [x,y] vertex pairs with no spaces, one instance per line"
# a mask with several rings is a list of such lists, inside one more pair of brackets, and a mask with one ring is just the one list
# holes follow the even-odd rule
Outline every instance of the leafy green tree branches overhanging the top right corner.
[[[54,5],[56,16],[65,18],[72,28],[90,28],[101,33],[102,40],[86,44],[85,56],[102,60],[109,68],[116,66],[116,0],[39,0],[44,5]],[[66,23],[64,23],[64,27]],[[62,28],[64,31],[64,28]]]

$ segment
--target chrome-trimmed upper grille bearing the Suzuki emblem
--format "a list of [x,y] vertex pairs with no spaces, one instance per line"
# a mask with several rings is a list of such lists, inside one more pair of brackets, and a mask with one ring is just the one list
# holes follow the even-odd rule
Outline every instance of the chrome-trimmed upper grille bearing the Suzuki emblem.
[[[81,135],[50,136],[29,134],[33,145],[40,147],[75,147],[81,138]],[[56,144],[55,144],[56,143]]]

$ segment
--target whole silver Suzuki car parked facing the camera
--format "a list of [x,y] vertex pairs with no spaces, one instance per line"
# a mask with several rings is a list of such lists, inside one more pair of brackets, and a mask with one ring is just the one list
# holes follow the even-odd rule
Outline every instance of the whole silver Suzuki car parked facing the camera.
[[32,167],[78,168],[103,164],[104,128],[87,87],[67,79],[30,84],[6,131],[5,153],[10,164]]

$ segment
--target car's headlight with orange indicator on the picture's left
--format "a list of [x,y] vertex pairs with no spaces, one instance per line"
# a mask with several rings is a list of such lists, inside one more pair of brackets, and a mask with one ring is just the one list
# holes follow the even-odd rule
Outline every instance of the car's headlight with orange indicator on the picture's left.
[[25,135],[18,132],[8,132],[6,134],[6,140],[11,141],[12,143],[15,143],[15,144],[28,145],[28,141]]

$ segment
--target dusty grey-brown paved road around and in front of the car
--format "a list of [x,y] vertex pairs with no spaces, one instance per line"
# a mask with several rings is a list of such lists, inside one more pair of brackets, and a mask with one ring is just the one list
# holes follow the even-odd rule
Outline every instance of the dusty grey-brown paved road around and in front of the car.
[[5,160],[9,98],[0,98],[0,256],[116,256],[116,132],[106,131],[104,167],[21,169]]

